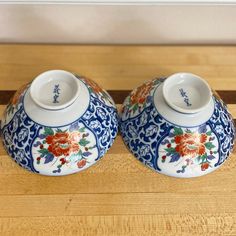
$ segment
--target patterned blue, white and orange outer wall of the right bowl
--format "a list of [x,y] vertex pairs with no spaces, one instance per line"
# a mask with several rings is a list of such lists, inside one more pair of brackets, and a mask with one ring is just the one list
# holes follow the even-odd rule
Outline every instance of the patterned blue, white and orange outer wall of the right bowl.
[[214,113],[206,123],[188,128],[173,125],[148,99],[162,81],[149,88],[141,113],[129,112],[131,99],[126,98],[120,124],[125,144],[138,160],[160,173],[193,177],[213,171],[227,159],[235,140],[233,119],[226,105],[213,95]]

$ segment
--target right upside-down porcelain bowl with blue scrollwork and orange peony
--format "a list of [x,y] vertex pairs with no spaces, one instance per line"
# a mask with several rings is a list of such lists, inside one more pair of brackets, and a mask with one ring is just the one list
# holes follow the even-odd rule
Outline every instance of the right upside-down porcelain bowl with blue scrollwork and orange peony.
[[173,177],[197,177],[219,168],[235,141],[232,116],[197,75],[177,73],[136,88],[121,111],[121,134],[146,166]]

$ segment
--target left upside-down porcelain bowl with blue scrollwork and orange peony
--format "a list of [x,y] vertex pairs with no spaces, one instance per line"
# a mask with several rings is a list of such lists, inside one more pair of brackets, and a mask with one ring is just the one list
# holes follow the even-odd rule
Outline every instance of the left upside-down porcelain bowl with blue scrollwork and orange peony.
[[67,175],[96,163],[118,132],[116,106],[94,81],[62,70],[20,88],[1,122],[3,144],[21,167]]

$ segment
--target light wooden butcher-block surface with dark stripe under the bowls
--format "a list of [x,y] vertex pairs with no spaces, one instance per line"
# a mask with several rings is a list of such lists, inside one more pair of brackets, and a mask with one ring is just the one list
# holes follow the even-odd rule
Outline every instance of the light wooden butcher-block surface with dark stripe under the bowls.
[[[204,77],[236,118],[236,46],[0,45],[0,110],[49,69],[93,78],[119,104],[145,80],[188,71]],[[236,235],[236,155],[194,179],[154,173],[118,136],[88,170],[45,177],[0,146],[0,235]]]

